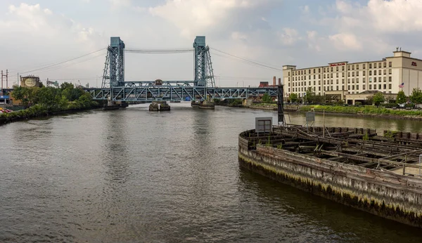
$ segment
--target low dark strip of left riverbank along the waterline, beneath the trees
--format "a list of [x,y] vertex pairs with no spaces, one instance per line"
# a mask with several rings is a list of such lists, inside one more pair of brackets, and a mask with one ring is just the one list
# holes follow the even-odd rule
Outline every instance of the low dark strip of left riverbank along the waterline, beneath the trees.
[[36,117],[49,117],[58,114],[70,114],[73,112],[81,112],[84,110],[98,109],[102,106],[97,102],[91,102],[89,106],[75,106],[70,105],[66,109],[59,109],[58,107],[49,107],[47,105],[32,105],[25,110],[19,110],[10,113],[0,114],[0,126],[9,124],[15,121],[25,121]]

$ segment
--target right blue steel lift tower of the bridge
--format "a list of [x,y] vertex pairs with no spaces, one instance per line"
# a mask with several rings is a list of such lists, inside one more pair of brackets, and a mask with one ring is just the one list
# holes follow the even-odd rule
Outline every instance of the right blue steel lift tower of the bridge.
[[195,48],[195,86],[215,87],[214,70],[210,55],[210,47],[205,44],[205,37],[196,37]]

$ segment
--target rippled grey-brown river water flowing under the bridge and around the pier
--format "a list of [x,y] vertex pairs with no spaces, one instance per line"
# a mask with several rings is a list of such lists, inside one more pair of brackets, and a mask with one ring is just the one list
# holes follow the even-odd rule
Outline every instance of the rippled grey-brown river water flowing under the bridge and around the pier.
[[[0,126],[0,242],[422,241],[416,228],[239,168],[238,133],[275,112],[170,105]],[[325,124],[422,129],[339,115]]]

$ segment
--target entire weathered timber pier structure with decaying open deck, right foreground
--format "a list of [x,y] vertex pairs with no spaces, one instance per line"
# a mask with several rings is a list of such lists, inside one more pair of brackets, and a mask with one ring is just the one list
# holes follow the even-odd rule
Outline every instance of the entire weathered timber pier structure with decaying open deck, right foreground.
[[260,136],[245,131],[238,145],[239,163],[250,171],[422,228],[421,134],[274,127]]

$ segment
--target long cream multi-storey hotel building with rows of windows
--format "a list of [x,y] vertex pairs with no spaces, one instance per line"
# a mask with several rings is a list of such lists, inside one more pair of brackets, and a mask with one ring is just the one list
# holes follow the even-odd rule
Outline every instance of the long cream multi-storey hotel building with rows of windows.
[[311,87],[316,95],[331,96],[354,104],[377,91],[386,96],[390,94],[392,98],[400,90],[409,96],[413,88],[422,89],[422,60],[411,58],[411,53],[398,48],[393,53],[391,57],[376,61],[328,63],[326,66],[300,69],[285,65],[284,96],[287,98],[290,93],[297,93],[302,97]]

